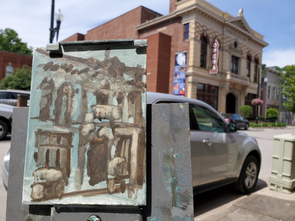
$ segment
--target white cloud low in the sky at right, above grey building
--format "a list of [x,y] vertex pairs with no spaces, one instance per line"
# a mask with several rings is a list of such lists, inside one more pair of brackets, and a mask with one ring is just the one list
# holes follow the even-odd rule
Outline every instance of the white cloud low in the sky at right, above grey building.
[[286,65],[295,64],[295,49],[273,49],[263,52],[262,63],[269,66],[285,67]]

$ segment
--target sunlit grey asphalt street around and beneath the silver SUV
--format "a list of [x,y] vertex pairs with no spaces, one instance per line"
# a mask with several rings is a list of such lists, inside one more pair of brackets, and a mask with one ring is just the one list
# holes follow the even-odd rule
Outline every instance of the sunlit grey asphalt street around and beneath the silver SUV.
[[[294,133],[295,127],[287,128],[250,128],[248,131],[239,130],[239,133],[247,133],[257,139],[262,155],[261,170],[258,177],[258,184],[255,189],[256,193],[262,195],[276,196],[295,200],[295,193],[281,194],[268,190],[268,179],[271,173],[272,153],[273,153],[273,136],[284,133]],[[10,137],[0,141],[0,171],[2,172],[4,154],[10,147]],[[4,188],[2,177],[0,177],[0,220],[5,220],[6,214],[6,197],[7,192]],[[242,195],[237,193],[231,185],[214,189],[194,196],[194,220],[209,220],[212,215],[218,217],[224,211],[230,210],[233,206],[239,205],[239,200],[251,197],[251,195]],[[250,199],[250,198],[249,198]],[[236,213],[238,214],[238,213]],[[294,212],[295,217],[295,212]],[[219,220],[219,219],[217,219]]]

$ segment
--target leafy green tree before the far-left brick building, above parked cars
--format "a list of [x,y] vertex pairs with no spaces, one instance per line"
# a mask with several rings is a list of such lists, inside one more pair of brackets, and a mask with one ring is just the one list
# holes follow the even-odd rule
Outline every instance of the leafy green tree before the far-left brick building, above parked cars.
[[22,68],[16,68],[13,75],[4,77],[0,81],[0,89],[30,90],[31,75],[32,68],[27,65],[24,65]]

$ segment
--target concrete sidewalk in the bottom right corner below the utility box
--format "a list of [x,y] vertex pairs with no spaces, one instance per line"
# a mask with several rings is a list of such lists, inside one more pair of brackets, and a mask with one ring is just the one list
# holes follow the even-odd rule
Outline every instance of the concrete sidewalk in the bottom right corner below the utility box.
[[195,220],[206,221],[295,221],[295,193],[283,194],[265,187],[245,195],[226,208],[215,208]]

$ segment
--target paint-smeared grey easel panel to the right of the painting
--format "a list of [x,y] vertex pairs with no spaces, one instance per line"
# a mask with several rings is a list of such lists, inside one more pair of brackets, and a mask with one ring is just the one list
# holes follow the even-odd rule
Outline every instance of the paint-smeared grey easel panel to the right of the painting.
[[189,105],[148,105],[147,123],[144,219],[194,220]]

